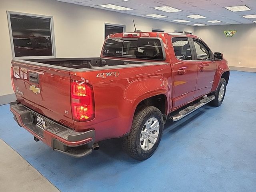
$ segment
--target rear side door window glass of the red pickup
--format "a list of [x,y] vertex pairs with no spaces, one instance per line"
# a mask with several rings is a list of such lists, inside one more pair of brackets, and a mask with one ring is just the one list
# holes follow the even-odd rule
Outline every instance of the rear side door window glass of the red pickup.
[[191,50],[186,37],[174,37],[172,38],[172,45],[176,58],[182,60],[192,60]]

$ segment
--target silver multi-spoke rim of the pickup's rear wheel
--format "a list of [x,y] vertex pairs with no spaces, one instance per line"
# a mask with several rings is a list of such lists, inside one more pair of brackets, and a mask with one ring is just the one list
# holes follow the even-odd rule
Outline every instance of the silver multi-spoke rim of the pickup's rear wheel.
[[140,147],[144,151],[150,150],[157,141],[159,135],[159,121],[157,118],[150,118],[142,127],[140,133]]

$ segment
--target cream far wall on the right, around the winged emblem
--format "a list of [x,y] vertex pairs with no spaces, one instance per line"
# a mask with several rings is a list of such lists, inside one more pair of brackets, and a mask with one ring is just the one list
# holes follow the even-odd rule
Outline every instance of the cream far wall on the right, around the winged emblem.
[[[224,31],[236,30],[227,37]],[[195,35],[202,38],[213,52],[222,52],[230,66],[256,68],[256,24],[196,27]]]

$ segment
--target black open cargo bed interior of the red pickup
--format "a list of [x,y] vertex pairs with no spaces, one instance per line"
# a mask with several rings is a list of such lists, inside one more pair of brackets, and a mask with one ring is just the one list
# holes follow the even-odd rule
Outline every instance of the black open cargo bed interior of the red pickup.
[[49,64],[72,69],[96,68],[104,66],[117,66],[127,64],[146,63],[141,61],[127,61],[105,58],[53,58],[53,59],[28,59],[25,61]]

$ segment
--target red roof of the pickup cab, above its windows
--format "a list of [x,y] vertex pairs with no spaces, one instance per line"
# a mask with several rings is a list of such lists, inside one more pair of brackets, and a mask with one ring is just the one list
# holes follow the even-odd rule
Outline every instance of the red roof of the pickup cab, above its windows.
[[126,37],[159,37],[159,34],[163,34],[164,36],[187,36],[187,37],[193,37],[198,38],[195,35],[191,34],[184,34],[184,33],[174,33],[174,32],[124,32],[124,33],[115,33],[108,35],[107,38],[123,38]]

